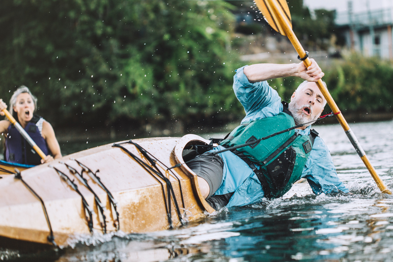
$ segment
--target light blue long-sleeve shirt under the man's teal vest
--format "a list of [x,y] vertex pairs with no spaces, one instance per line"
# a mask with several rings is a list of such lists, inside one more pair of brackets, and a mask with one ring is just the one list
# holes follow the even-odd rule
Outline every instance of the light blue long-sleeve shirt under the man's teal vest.
[[[271,88],[266,81],[250,83],[243,73],[243,68],[237,69],[233,78],[233,90],[246,112],[241,123],[276,116],[282,112],[281,98],[277,91]],[[309,135],[310,127],[297,130],[301,135]],[[214,150],[221,149],[224,147],[218,146]],[[224,161],[224,175],[223,182],[215,195],[234,192],[226,205],[227,207],[260,201],[264,197],[264,192],[253,170],[230,151],[219,153],[219,155]],[[339,180],[329,149],[320,137],[315,138],[303,169],[302,178],[307,178],[312,191],[317,195],[322,192],[325,194],[338,192],[338,190],[349,192]]]

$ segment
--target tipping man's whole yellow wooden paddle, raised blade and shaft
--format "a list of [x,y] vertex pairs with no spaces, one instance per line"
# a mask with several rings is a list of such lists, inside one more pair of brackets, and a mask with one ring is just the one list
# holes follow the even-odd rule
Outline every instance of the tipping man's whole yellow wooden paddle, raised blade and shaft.
[[[303,49],[298,38],[292,30],[291,14],[289,13],[289,8],[286,0],[255,0],[255,2],[269,25],[276,31],[280,32],[282,35],[288,37],[289,41],[291,41],[292,45],[295,47],[296,52],[299,54],[298,58],[304,62],[306,67],[309,67],[311,65],[311,61],[308,58],[308,52]],[[368,158],[365,155],[365,151],[360,146],[352,130],[349,128],[347,121],[338,110],[336,102],[333,100],[328,89],[323,85],[322,80],[319,79],[318,82],[316,82],[316,85],[319,87],[319,90],[321,90],[327,103],[329,104],[333,113],[336,115],[338,122],[340,122],[342,128],[344,129],[345,134],[351,141],[352,145],[355,147],[360,158],[363,160],[363,163],[365,163],[365,166],[370,172],[372,178],[374,178],[379,189],[382,191],[382,193],[391,195],[392,192],[384,185],[381,178],[378,176],[375,169],[368,161]]]

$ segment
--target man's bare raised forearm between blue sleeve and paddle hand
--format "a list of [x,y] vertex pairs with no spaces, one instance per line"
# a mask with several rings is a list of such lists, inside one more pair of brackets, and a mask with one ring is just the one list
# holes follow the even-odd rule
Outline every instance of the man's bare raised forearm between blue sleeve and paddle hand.
[[299,76],[298,64],[253,64],[243,69],[250,83],[274,78]]

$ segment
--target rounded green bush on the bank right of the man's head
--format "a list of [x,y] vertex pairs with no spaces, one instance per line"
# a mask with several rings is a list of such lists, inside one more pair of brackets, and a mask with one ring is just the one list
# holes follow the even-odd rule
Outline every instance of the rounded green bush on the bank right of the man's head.
[[391,63],[354,54],[337,61],[326,72],[324,79],[341,111],[392,111]]

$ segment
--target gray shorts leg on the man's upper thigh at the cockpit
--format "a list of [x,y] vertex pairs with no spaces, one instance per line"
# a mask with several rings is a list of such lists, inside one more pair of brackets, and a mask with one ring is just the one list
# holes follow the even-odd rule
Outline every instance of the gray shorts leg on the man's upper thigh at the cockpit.
[[188,161],[187,166],[209,184],[210,192],[207,198],[211,197],[221,186],[224,161],[219,155],[212,155],[210,152],[203,153]]

